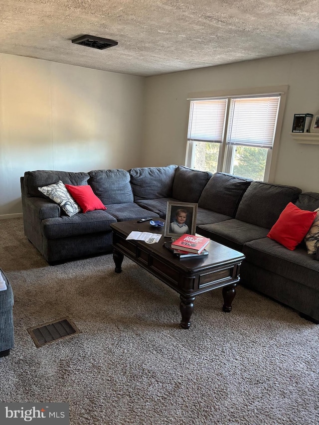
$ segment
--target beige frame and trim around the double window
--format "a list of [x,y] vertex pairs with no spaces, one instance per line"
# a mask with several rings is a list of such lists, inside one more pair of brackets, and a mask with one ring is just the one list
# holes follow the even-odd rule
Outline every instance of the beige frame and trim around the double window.
[[[265,174],[264,174],[264,180],[263,180],[266,182],[274,181],[288,89],[289,89],[289,86],[286,85],[286,86],[271,86],[271,87],[255,87],[255,88],[249,88],[249,89],[220,90],[220,91],[214,91],[214,92],[196,92],[196,93],[188,94],[187,96],[187,101],[189,106],[188,111],[190,110],[190,101],[200,100],[200,99],[213,99],[213,98],[228,99],[227,106],[226,106],[226,119],[224,124],[222,143],[219,143],[220,147],[219,147],[219,155],[218,155],[218,163],[217,163],[217,172],[229,172],[227,171],[228,169],[230,169],[228,168],[230,165],[229,151],[234,148],[234,146],[231,146],[230,144],[227,143],[228,119],[230,115],[230,104],[231,104],[230,99],[234,97],[245,97],[245,96],[249,97],[249,96],[256,96],[256,95],[267,96],[267,95],[279,94],[280,101],[279,101],[277,124],[276,124],[275,135],[274,135],[274,143],[273,143],[273,147],[269,148],[267,152],[267,160],[266,160]],[[193,163],[192,162],[193,157],[195,154],[195,148],[194,148],[195,142],[187,140],[188,121],[189,121],[189,115],[187,120],[187,129],[186,129],[187,145],[186,145],[185,165],[188,167],[191,167],[191,164]]]

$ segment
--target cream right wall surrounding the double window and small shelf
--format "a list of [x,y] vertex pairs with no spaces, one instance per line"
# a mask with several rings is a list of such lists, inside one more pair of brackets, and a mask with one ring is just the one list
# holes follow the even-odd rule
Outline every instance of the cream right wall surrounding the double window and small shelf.
[[190,93],[289,85],[274,182],[319,192],[319,145],[293,141],[294,114],[319,110],[319,52],[148,77],[143,163],[184,164]]

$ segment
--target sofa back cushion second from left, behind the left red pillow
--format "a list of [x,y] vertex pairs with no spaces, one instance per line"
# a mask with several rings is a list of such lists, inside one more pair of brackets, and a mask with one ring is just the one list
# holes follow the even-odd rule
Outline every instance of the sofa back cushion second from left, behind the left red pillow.
[[89,185],[104,205],[133,202],[130,174],[122,169],[93,170]]

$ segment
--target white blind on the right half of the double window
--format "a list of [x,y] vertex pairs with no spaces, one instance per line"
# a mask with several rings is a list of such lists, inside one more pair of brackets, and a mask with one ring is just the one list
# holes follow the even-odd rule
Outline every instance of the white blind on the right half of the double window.
[[280,96],[231,100],[227,142],[272,148]]

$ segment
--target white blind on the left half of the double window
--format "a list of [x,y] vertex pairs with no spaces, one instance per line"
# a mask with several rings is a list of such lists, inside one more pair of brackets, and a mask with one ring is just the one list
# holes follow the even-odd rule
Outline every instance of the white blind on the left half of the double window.
[[187,140],[221,143],[227,99],[190,101]]

